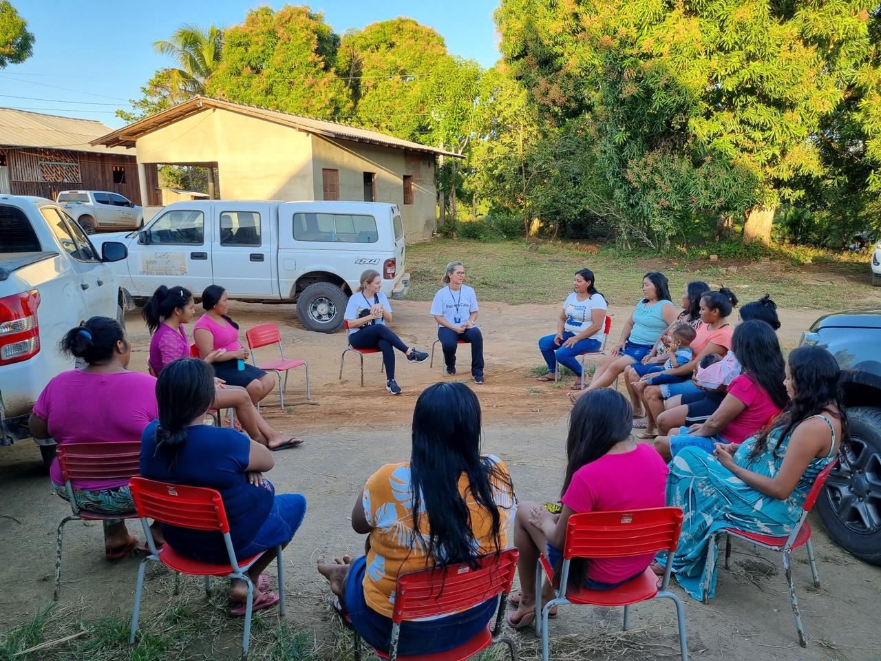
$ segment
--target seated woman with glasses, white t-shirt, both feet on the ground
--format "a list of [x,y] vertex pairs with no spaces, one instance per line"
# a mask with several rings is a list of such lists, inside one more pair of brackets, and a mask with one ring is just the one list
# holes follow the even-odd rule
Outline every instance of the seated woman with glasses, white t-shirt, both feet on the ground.
[[462,262],[447,264],[443,281],[447,286],[434,294],[432,314],[438,323],[438,339],[443,347],[445,374],[455,375],[455,349],[460,341],[471,345],[471,377],[484,382],[484,336],[474,325],[478,320],[478,296],[465,284]]

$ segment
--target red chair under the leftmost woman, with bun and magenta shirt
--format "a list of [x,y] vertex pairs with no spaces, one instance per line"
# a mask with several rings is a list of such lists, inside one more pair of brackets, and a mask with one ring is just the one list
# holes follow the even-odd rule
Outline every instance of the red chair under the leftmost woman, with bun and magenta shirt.
[[79,509],[71,481],[74,479],[130,479],[140,472],[141,442],[103,442],[103,443],[64,443],[57,447],[58,465],[67,489],[67,500],[72,514],[65,516],[58,524],[56,538],[56,581],[52,600],[58,600],[61,583],[61,546],[64,524],[74,519],[83,521],[111,521],[113,519],[137,518],[132,509],[125,514],[97,514],[87,509]]

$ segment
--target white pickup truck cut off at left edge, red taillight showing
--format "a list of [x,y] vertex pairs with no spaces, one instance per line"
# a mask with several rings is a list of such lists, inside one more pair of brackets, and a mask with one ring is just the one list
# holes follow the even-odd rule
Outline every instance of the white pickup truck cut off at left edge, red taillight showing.
[[[27,419],[53,376],[73,368],[63,334],[91,316],[122,319],[122,293],[107,262],[64,210],[42,197],[0,195],[0,445],[30,436]],[[54,447],[41,446],[44,459]]]

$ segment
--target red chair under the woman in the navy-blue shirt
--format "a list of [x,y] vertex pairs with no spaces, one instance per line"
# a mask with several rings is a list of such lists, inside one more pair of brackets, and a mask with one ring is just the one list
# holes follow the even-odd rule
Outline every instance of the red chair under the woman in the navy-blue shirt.
[[[202,486],[184,486],[158,482],[153,479],[132,478],[131,497],[135,501],[137,516],[141,517],[144,535],[150,553],[141,561],[137,568],[137,587],[135,588],[135,610],[131,615],[131,635],[129,643],[135,644],[137,634],[137,618],[141,610],[141,594],[144,590],[144,570],[147,563],[162,562],[179,574],[188,576],[204,576],[205,592],[211,594],[211,576],[239,578],[248,586],[248,600],[245,605],[245,631],[242,635],[241,650],[244,658],[248,657],[248,644],[251,635],[251,608],[254,605],[254,585],[245,573],[263,553],[239,561],[233,551],[233,539],[229,534],[229,523],[226,520],[226,509],[216,489]],[[160,551],[156,550],[150,525],[147,519],[152,518],[163,524],[176,525],[196,531],[218,531],[223,534],[228,564],[214,564],[191,560],[177,553],[168,542]],[[282,562],[282,546],[276,546],[276,564],[278,565],[278,614],[285,614],[285,565]]]

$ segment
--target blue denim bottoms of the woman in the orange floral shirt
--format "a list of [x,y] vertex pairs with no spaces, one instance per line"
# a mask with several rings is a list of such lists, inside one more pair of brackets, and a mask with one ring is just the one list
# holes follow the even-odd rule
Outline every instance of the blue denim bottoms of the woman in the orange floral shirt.
[[[352,628],[364,640],[379,650],[389,651],[391,618],[376,613],[364,599],[366,556],[352,561],[345,577],[345,611],[352,619]],[[454,650],[470,641],[486,628],[499,607],[499,598],[492,598],[462,613],[437,620],[405,621],[397,639],[397,651],[402,656],[421,656]]]

